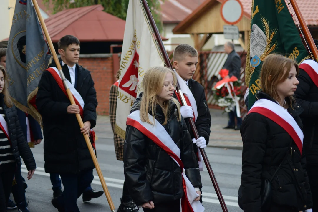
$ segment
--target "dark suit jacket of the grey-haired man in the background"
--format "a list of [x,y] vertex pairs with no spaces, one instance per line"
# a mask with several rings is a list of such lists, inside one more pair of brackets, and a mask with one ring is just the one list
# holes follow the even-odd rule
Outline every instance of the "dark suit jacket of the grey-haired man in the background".
[[229,77],[235,76],[240,79],[241,74],[241,58],[235,50],[227,56],[223,68],[229,70]]

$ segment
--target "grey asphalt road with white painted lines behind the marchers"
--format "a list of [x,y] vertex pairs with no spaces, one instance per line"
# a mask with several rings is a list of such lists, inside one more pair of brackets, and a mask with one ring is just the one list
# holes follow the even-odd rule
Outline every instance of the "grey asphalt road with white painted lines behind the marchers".
[[[123,163],[122,161],[116,160],[112,139],[100,138],[97,140],[96,149],[100,168],[105,177],[115,208],[117,209],[120,204],[120,197],[124,182]],[[27,201],[29,200],[28,208],[31,212],[57,211],[57,209],[55,209],[51,204],[53,191],[49,174],[44,171],[43,141],[31,150],[37,163],[37,169],[32,179],[27,181],[28,188],[26,190],[26,198]],[[205,150],[211,162],[212,169],[218,181],[218,185],[221,189],[228,211],[242,211],[237,203],[237,191],[239,189],[241,175],[242,151],[234,149],[226,150],[214,147],[207,147]],[[26,179],[27,170],[24,165],[22,167],[22,174]],[[102,190],[98,174],[95,170],[94,176],[92,183],[93,189]],[[222,212],[218,197],[205,167],[204,171],[201,172],[201,177],[203,183],[203,205],[205,211]],[[80,197],[77,204],[80,211],[111,211],[105,195],[86,203],[83,203],[82,198]],[[142,211],[142,209],[139,211]]]

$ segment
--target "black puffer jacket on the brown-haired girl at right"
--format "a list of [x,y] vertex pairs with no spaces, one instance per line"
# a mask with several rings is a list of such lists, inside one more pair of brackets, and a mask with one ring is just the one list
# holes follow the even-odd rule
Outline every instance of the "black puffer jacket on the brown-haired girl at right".
[[[263,92],[258,92],[256,97],[276,103]],[[288,112],[302,128],[299,114],[303,109],[298,104],[293,108]],[[262,180],[270,180],[283,160],[272,181],[272,201],[294,207],[296,211],[311,208],[305,154],[304,151],[301,154],[291,136],[280,125],[259,113],[249,113],[240,131],[243,140],[241,186],[244,212],[261,211]]]

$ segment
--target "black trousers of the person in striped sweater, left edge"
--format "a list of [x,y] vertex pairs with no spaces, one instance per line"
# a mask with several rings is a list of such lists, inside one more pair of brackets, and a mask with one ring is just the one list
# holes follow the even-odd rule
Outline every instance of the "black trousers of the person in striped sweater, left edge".
[[0,212],[7,212],[14,176],[14,167],[15,163],[0,165]]

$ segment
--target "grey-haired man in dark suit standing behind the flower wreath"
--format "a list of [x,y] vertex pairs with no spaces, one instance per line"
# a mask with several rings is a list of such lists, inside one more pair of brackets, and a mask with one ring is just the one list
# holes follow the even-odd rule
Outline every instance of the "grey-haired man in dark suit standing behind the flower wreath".
[[[228,57],[225,61],[223,69],[229,70],[229,75],[225,78],[231,78],[232,76],[240,79],[241,73],[241,58],[238,53],[234,50],[234,44],[231,42],[226,42],[224,44],[224,51],[228,54]],[[235,117],[237,120],[237,126],[235,127]],[[242,118],[239,118],[236,114],[236,107],[234,107],[233,111],[229,112],[229,122],[226,127],[223,129],[235,129],[239,130],[242,124]]]

